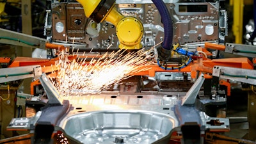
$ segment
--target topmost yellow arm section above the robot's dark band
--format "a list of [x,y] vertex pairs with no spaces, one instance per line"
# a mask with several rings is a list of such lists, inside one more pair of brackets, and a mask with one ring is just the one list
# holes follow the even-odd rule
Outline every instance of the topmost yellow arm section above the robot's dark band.
[[79,3],[82,4],[84,8],[84,13],[86,17],[90,17],[92,15],[95,8],[97,8],[98,4],[101,0],[77,0]]

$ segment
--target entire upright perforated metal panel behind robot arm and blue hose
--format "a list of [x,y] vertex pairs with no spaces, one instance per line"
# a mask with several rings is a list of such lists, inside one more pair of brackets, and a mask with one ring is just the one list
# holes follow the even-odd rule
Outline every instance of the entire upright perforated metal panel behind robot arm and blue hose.
[[[225,12],[220,13],[219,2],[164,2],[173,20],[173,42],[195,46],[204,42],[218,43],[219,38],[223,40],[227,35],[227,17]],[[146,49],[163,40],[162,18],[152,1],[116,1],[115,6],[123,15],[141,20],[145,29],[142,44]],[[79,3],[53,3],[52,26],[52,40],[56,42],[75,42],[84,45],[84,48],[102,49],[119,44],[115,26],[106,21],[97,24],[86,18]]]

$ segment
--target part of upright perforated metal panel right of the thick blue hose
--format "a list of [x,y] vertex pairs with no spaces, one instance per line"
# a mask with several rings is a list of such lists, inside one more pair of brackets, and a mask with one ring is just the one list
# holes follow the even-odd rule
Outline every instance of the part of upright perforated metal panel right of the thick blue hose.
[[169,7],[174,21],[174,42],[218,40],[218,4],[174,3]]

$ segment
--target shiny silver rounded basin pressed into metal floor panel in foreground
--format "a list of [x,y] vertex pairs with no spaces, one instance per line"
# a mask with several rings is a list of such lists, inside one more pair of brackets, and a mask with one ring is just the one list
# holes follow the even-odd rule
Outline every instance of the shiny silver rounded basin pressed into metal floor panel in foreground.
[[176,122],[152,111],[97,111],[67,117],[63,129],[82,143],[152,143],[166,136]]

